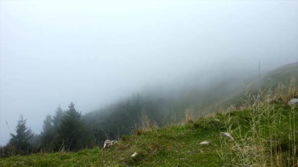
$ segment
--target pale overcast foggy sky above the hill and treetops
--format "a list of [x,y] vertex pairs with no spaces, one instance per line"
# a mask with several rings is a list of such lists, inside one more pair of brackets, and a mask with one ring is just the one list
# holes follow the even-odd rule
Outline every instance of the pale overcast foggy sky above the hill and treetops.
[[20,114],[40,133],[193,72],[275,68],[298,58],[297,0],[0,0],[0,145]]

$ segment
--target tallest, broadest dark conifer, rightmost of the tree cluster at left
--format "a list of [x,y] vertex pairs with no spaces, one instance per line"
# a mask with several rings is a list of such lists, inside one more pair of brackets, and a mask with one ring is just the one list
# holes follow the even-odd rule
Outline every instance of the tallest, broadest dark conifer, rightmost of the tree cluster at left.
[[88,132],[85,122],[82,121],[81,112],[75,110],[75,104],[71,103],[65,112],[58,130],[58,143],[66,150],[77,150],[88,144]]

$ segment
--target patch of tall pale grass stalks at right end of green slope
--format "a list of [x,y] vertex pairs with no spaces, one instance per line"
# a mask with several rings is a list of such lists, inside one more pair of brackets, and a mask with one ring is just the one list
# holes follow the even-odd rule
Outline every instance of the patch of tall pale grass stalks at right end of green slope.
[[[252,99],[249,96],[247,104]],[[262,101],[266,102],[266,99]],[[235,167],[298,167],[295,128],[297,106],[292,106],[291,112],[285,116],[282,107],[263,103],[258,97],[254,97],[253,102],[248,132],[241,131],[239,122],[235,129],[226,126],[227,131],[233,131],[237,138],[234,142],[226,142],[221,138],[218,153],[224,164]],[[225,122],[230,122],[230,117]]]

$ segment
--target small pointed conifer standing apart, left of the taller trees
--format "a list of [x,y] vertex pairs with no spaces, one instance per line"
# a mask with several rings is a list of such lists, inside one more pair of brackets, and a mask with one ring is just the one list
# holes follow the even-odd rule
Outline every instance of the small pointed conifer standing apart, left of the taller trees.
[[10,133],[11,139],[9,140],[9,144],[15,146],[17,150],[30,150],[30,141],[32,140],[34,133],[32,133],[31,129],[26,126],[26,120],[24,120],[22,114],[20,115],[18,125],[16,126],[16,133],[16,135]]

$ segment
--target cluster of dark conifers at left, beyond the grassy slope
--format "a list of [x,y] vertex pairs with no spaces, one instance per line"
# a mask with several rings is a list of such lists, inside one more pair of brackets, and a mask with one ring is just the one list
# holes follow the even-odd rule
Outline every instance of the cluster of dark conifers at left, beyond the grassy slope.
[[16,134],[10,133],[10,140],[1,147],[2,156],[24,155],[32,152],[55,152],[78,150],[92,146],[92,137],[81,112],[71,103],[66,111],[58,107],[54,116],[47,115],[40,134],[34,134],[26,126],[26,119],[20,116]]

